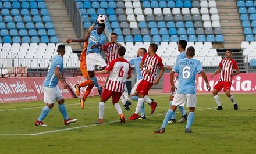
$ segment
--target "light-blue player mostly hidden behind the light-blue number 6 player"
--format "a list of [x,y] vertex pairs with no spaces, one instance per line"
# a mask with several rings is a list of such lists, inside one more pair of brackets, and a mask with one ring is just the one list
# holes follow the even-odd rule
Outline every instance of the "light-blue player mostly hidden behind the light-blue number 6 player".
[[[187,47],[186,40],[180,40],[178,42],[178,51],[180,52],[180,54],[177,56],[176,62],[180,59],[186,58],[186,47]],[[167,69],[172,70],[172,67],[167,67]],[[177,76],[177,78],[178,78],[178,76]],[[175,87],[177,87],[177,88],[179,87],[179,81],[176,81]],[[172,94],[170,94],[170,99],[169,99],[170,106],[172,106],[172,100],[174,98],[175,93],[176,93],[176,89]],[[179,109],[180,109],[180,113],[182,113],[182,118],[179,120],[179,123],[183,123],[184,121],[187,120],[187,113],[183,106],[179,106]],[[168,123],[176,123],[175,113],[172,114],[172,117],[170,117],[170,120],[168,121]]]

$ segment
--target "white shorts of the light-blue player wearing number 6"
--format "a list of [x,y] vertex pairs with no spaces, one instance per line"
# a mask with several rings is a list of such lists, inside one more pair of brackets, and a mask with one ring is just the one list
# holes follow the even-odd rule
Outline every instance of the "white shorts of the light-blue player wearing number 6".
[[187,107],[197,106],[197,94],[175,94],[172,105],[184,106],[187,103]]

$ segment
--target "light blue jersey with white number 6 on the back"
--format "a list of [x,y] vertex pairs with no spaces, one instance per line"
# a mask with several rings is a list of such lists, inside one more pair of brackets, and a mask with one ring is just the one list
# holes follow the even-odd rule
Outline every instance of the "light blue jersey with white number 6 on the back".
[[172,69],[172,71],[179,73],[179,88],[177,88],[177,93],[195,94],[195,76],[202,70],[199,60],[193,58],[179,60]]

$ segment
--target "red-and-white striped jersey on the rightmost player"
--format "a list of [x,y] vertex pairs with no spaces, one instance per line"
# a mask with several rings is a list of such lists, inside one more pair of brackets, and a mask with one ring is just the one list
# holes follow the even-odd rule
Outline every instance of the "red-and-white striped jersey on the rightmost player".
[[232,82],[232,73],[234,69],[238,69],[237,62],[234,59],[222,59],[219,63],[221,68],[221,76],[219,81]]

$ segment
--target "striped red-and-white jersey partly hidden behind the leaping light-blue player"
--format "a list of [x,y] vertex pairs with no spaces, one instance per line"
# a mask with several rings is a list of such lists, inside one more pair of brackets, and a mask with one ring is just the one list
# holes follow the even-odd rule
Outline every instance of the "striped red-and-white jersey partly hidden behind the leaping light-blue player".
[[109,64],[112,60],[118,58],[118,45],[109,42],[102,46],[103,51],[106,52],[106,63]]

